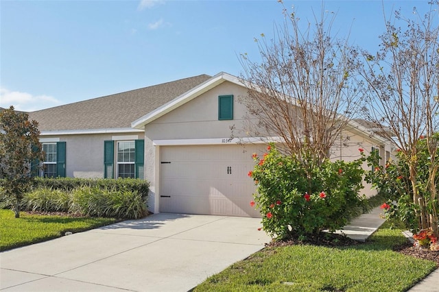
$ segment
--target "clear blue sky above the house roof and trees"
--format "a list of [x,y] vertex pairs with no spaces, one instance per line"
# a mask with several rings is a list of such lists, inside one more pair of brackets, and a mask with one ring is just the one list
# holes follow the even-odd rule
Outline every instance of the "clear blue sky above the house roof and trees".
[[[376,51],[386,14],[412,1],[284,1],[302,21],[321,5],[333,31]],[[254,38],[283,23],[276,0],[0,0],[0,106],[40,110],[200,74],[239,75],[239,53],[259,60]]]

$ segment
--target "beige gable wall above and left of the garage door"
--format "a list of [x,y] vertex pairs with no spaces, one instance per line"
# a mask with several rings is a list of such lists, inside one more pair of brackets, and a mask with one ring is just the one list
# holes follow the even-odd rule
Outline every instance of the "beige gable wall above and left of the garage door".
[[[160,146],[154,145],[154,141],[217,138],[220,144],[232,135],[244,138],[230,127],[243,127],[246,107],[239,104],[239,97],[246,94],[246,88],[224,82],[145,125],[145,180],[150,182],[150,211],[158,212],[156,202],[160,193]],[[219,95],[233,95],[233,120],[218,121]]]

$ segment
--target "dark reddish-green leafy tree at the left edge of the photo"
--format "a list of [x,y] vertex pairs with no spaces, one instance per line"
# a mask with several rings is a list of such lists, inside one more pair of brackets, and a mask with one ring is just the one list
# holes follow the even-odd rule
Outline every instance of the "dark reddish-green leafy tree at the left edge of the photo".
[[[15,217],[20,217],[20,202],[32,184],[31,165],[43,160],[38,141],[38,123],[14,107],[0,112],[0,178],[3,192],[15,200]],[[38,166],[38,165],[37,165]]]

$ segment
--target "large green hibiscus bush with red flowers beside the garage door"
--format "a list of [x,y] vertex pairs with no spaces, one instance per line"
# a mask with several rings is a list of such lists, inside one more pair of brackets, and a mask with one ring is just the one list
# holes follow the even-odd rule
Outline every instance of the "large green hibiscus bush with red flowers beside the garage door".
[[325,160],[306,167],[274,145],[262,157],[252,157],[257,163],[248,175],[257,193],[250,204],[261,211],[263,230],[277,239],[340,229],[365,206],[366,197],[359,195],[366,160],[362,151],[353,162]]

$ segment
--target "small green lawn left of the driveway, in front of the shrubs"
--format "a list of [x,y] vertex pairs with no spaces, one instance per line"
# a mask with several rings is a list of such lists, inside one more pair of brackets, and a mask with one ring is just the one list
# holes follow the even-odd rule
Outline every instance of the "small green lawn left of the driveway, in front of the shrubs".
[[16,219],[14,211],[0,210],[0,251],[55,239],[67,231],[81,232],[115,221],[111,218],[29,215],[26,212],[21,212],[20,218]]

